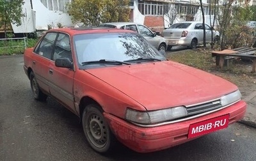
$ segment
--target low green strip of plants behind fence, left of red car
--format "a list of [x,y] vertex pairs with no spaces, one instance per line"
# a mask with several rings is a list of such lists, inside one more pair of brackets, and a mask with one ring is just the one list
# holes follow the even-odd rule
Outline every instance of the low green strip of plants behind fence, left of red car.
[[[26,47],[34,47],[37,39],[26,39]],[[0,56],[24,53],[24,40],[0,40]]]

